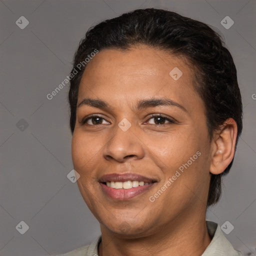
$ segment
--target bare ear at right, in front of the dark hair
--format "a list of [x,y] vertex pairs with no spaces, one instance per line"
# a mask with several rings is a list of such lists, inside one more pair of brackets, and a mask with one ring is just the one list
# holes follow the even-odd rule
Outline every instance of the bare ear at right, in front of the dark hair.
[[237,125],[234,119],[228,118],[213,134],[211,141],[210,172],[219,174],[225,170],[234,156]]

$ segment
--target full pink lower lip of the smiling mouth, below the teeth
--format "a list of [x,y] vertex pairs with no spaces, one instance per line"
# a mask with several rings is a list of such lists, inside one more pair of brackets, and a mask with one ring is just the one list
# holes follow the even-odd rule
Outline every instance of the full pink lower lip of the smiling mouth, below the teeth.
[[103,191],[111,198],[118,199],[118,200],[126,200],[138,194],[143,193],[144,191],[149,189],[154,183],[149,183],[143,186],[131,187],[128,189],[124,189],[124,188],[116,189],[116,188],[109,187],[103,183],[99,183],[99,184],[101,185]]

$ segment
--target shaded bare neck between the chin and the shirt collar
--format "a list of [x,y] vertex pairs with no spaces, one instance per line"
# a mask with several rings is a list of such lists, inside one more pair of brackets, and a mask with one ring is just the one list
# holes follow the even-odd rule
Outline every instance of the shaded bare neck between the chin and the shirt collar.
[[98,247],[99,256],[200,256],[211,241],[205,214],[198,218],[175,218],[150,235],[123,237],[101,227],[102,239]]

